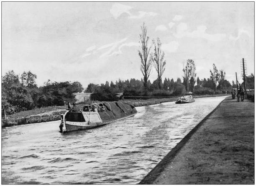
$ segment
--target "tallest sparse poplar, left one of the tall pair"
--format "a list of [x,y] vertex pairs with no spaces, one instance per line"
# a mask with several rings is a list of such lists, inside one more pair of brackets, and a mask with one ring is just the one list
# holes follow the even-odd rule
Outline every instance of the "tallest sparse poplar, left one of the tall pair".
[[152,59],[151,57],[148,57],[151,47],[148,47],[148,40],[149,37],[147,36],[147,27],[145,26],[145,23],[143,23],[143,26],[141,27],[141,34],[140,36],[140,50],[138,50],[138,55],[141,58],[141,72],[143,74],[143,85],[145,89],[145,94],[147,94],[148,91],[148,77],[151,73],[151,63]]

